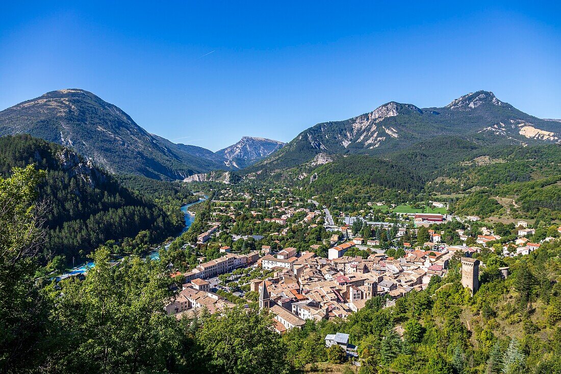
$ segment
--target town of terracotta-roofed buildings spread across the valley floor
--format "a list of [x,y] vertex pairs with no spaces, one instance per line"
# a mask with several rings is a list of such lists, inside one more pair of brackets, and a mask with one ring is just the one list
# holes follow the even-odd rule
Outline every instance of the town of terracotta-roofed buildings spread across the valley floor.
[[[447,206],[430,204],[440,212]],[[462,284],[473,294],[482,251],[525,255],[561,234],[557,227],[549,232],[553,236],[537,238],[536,229],[523,220],[498,225],[499,233],[482,226],[479,217],[381,213],[380,205],[369,204],[373,209],[362,211],[363,217],[332,217],[313,198],[287,191],[236,194],[223,188],[209,202],[208,230],[191,246],[206,247],[206,253],[219,247],[219,257],[200,257],[188,271],[174,272],[177,297],[165,309],[177,318],[192,318],[256,302],[274,314],[275,330],[284,334],[306,320],[345,319],[376,296],[392,306],[408,292],[426,289],[431,278],[447,275],[454,261],[461,262]],[[378,221],[370,221],[373,216]],[[507,266],[499,271],[508,277]]]

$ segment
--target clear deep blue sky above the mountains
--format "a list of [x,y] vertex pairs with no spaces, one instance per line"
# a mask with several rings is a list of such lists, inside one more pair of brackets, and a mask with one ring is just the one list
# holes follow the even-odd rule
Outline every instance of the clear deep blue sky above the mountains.
[[211,150],[479,89],[561,118],[561,6],[532,1],[0,5],[0,108],[89,90]]

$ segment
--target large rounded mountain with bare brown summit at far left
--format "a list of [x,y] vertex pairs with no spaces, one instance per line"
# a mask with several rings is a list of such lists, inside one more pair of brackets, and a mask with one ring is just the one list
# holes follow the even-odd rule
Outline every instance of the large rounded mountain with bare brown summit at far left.
[[81,89],[52,91],[0,112],[0,135],[21,133],[72,147],[113,173],[177,180],[224,168],[149,134],[118,107]]

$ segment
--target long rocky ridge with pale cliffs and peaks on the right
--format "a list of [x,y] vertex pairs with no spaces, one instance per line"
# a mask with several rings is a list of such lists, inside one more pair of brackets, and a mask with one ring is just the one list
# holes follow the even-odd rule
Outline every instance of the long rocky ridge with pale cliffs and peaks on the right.
[[528,115],[486,91],[463,95],[445,107],[389,102],[345,121],[312,126],[249,171],[294,167],[319,153],[385,154],[440,136],[462,136],[477,144],[551,144],[561,143],[561,124]]

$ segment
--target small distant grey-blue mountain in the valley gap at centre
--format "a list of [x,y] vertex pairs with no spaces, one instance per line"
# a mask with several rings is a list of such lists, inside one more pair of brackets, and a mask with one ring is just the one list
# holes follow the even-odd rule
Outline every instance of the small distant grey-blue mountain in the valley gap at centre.
[[218,150],[216,154],[225,159],[226,165],[241,169],[277,152],[283,146],[284,143],[277,140],[243,136],[239,142]]

